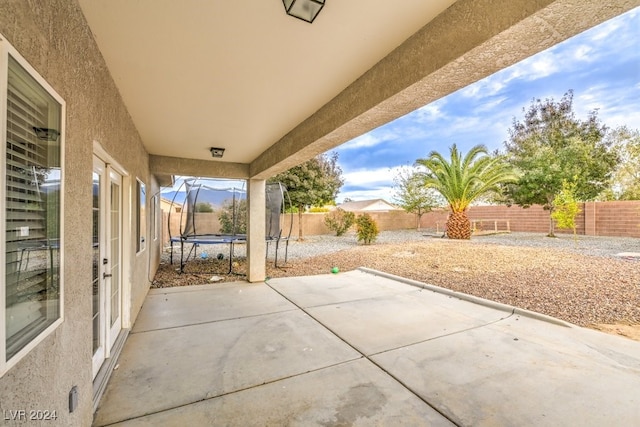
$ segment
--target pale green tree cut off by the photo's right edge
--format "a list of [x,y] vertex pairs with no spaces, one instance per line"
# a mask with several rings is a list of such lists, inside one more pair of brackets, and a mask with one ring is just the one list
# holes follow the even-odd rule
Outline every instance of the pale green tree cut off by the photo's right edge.
[[640,200],[640,130],[621,126],[607,133],[620,156],[612,184],[600,196],[604,200]]

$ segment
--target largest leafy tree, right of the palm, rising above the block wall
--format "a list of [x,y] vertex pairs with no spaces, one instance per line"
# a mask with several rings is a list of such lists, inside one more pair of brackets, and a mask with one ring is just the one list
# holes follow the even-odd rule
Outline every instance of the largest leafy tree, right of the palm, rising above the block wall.
[[[586,120],[576,118],[569,91],[557,103],[534,100],[523,112],[522,121],[513,119],[505,142],[507,159],[520,175],[506,186],[508,203],[539,204],[553,213],[553,200],[564,180],[576,177],[575,193],[582,201],[593,200],[608,187],[618,156],[604,140],[606,127],[596,111]],[[549,236],[553,231],[550,217]]]

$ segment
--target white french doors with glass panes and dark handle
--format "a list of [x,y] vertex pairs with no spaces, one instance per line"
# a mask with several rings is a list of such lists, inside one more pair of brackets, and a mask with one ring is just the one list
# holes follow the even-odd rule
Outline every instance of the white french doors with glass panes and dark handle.
[[122,175],[93,158],[93,376],[122,329]]

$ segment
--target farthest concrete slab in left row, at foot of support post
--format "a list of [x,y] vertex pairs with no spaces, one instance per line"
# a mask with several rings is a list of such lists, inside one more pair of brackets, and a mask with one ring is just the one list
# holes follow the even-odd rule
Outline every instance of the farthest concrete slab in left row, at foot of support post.
[[151,289],[132,332],[173,328],[296,307],[264,285],[246,282]]

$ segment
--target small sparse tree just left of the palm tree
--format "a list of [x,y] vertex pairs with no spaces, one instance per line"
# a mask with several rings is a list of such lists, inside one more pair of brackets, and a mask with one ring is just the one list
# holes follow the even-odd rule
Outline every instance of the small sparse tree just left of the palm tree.
[[416,228],[420,228],[420,220],[427,212],[442,205],[437,192],[425,187],[421,173],[417,168],[400,168],[394,181],[394,201],[405,211],[416,215]]

